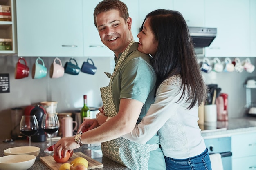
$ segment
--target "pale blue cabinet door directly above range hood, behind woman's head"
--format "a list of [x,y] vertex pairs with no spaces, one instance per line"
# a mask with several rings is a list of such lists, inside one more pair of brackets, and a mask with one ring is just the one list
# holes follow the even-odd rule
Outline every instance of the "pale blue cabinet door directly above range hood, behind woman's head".
[[183,15],[188,26],[204,26],[204,0],[173,0],[173,9]]

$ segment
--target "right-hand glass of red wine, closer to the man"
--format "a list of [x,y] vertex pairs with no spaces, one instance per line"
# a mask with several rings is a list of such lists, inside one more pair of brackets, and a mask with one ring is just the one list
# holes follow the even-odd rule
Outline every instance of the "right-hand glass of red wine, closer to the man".
[[50,134],[50,146],[52,146],[52,134],[60,128],[60,122],[56,113],[45,113],[41,127],[43,131]]

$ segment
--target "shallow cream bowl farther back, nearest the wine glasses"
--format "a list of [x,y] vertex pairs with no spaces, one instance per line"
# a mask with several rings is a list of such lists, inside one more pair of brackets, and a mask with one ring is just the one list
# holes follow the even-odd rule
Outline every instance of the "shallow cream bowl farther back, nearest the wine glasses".
[[38,156],[40,148],[36,146],[18,146],[4,150],[4,155],[30,154]]

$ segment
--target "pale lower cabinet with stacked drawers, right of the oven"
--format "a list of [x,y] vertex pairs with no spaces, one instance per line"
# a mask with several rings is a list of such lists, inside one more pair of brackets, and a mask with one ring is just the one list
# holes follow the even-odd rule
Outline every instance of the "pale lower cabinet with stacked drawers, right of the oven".
[[256,168],[256,132],[231,137],[232,170]]

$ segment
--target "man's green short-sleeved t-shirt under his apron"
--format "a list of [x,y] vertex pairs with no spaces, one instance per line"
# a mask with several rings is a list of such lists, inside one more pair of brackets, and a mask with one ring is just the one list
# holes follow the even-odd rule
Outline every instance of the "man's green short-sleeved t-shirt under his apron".
[[[137,124],[146,115],[150,105],[154,103],[156,74],[151,66],[149,55],[137,50],[138,43],[130,47],[126,58],[121,63],[112,83],[112,98],[118,113],[121,98],[135,99],[144,103]],[[119,54],[120,57],[121,54]],[[118,59],[116,60],[117,63]],[[158,144],[155,134],[147,144]],[[165,170],[164,155],[160,148],[150,152],[148,170]]]

